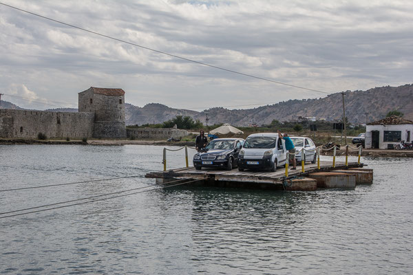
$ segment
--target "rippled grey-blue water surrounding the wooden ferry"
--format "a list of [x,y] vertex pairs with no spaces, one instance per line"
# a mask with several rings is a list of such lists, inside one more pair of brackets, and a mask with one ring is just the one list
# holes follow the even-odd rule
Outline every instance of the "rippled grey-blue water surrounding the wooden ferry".
[[[0,192],[0,212],[152,188],[161,160],[160,146],[0,146],[0,190],[138,176]],[[363,162],[372,186],[163,189],[0,219],[0,274],[413,274],[413,160]]]

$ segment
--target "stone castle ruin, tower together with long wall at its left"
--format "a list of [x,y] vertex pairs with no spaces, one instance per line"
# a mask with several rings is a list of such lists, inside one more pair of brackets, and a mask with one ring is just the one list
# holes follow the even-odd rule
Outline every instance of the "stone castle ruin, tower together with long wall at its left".
[[0,137],[125,138],[125,91],[90,87],[78,93],[78,112],[0,109]]

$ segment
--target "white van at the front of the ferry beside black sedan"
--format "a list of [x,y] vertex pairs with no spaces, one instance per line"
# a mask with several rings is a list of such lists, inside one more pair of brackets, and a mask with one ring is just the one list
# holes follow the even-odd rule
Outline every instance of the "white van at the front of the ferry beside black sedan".
[[248,135],[238,155],[238,170],[269,169],[286,164],[286,145],[278,133],[254,133]]

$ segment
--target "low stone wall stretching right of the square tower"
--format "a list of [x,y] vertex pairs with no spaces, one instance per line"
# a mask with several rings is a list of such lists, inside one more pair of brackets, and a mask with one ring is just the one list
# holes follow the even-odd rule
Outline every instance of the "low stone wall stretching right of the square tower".
[[147,138],[151,140],[167,140],[169,137],[180,140],[181,137],[189,134],[187,130],[173,128],[135,128],[127,129],[126,133],[129,138]]

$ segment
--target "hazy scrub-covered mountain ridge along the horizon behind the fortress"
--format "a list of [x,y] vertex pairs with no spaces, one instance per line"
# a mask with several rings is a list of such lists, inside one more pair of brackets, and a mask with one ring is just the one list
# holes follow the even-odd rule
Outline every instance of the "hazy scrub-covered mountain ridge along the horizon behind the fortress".
[[[367,91],[345,91],[346,116],[350,122],[365,123],[366,113],[368,122],[385,118],[392,110],[404,113],[404,118],[413,120],[413,85],[399,87],[375,87]],[[231,102],[220,102],[231,104]],[[208,113],[209,124],[227,122],[234,126],[251,124],[270,124],[272,120],[291,121],[301,117],[315,117],[318,120],[341,120],[343,115],[341,93],[330,94],[325,98],[288,100],[277,104],[266,105],[254,109],[225,109],[215,107],[201,112],[187,109],[173,109],[164,104],[150,103],[137,107],[125,103],[125,119],[127,125],[142,125],[162,123],[176,115],[189,115],[193,120],[199,119],[206,124],[205,113]],[[2,109],[22,109],[11,102],[1,100]],[[74,112],[77,109],[59,108],[47,111]]]

